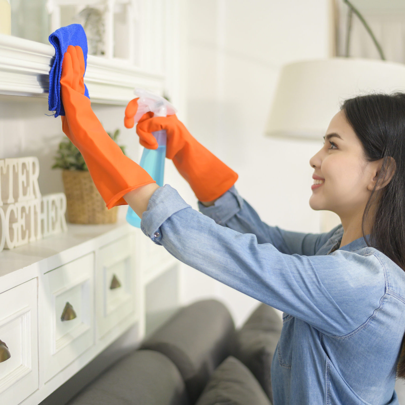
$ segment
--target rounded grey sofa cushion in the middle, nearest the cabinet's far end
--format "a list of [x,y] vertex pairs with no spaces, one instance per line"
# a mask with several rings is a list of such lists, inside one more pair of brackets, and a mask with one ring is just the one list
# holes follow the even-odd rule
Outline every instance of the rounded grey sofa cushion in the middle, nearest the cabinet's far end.
[[214,369],[233,350],[235,328],[228,309],[204,300],[181,308],[141,346],[170,358],[194,403]]

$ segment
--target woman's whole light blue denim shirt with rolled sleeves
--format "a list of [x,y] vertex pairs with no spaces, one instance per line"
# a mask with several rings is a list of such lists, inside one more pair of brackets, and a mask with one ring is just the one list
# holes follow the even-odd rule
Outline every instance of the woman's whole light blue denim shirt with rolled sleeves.
[[341,224],[320,234],[269,226],[234,186],[198,204],[201,212],[166,184],[141,229],[181,262],[283,311],[274,405],[398,404],[404,271],[363,238],[339,247]]

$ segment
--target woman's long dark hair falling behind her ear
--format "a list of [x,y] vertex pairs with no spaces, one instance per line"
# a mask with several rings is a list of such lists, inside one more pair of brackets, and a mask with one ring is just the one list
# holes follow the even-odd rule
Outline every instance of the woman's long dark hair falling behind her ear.
[[[383,159],[364,209],[362,237],[368,246],[384,253],[405,271],[405,93],[350,98],[343,102],[341,110],[362,143],[364,159],[367,162]],[[389,183],[376,190],[390,175]],[[369,244],[364,223],[372,205],[375,214]],[[396,376],[405,379],[405,345],[402,348]]]

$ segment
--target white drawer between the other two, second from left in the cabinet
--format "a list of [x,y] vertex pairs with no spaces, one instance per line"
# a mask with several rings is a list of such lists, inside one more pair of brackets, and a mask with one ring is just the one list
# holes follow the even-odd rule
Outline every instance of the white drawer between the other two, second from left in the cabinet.
[[93,274],[92,252],[43,276],[45,382],[94,344]]

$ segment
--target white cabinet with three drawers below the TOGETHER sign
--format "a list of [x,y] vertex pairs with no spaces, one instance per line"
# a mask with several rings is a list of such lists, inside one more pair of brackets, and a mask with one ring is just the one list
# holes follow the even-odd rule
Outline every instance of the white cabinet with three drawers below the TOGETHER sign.
[[132,326],[138,344],[179,306],[179,263],[124,221],[0,252],[0,404],[38,405]]

